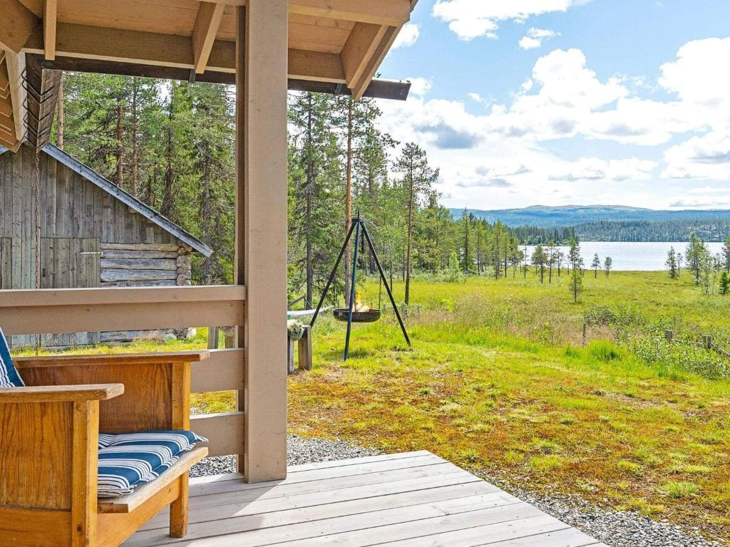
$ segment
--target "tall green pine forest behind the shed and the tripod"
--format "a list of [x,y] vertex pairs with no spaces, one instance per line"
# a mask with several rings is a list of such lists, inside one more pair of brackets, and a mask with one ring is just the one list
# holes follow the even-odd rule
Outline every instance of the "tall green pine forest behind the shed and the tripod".
[[[212,247],[193,278],[233,279],[234,97],[225,85],[103,74],[64,76],[54,141]],[[418,143],[380,131],[375,101],[293,93],[289,108],[289,294],[320,295],[345,239],[347,218],[369,222],[392,279],[415,273],[506,276],[520,239],[440,205],[439,172]],[[364,271],[374,260],[364,255]],[[346,267],[336,283],[345,291]],[[408,300],[407,287],[405,300]]]

